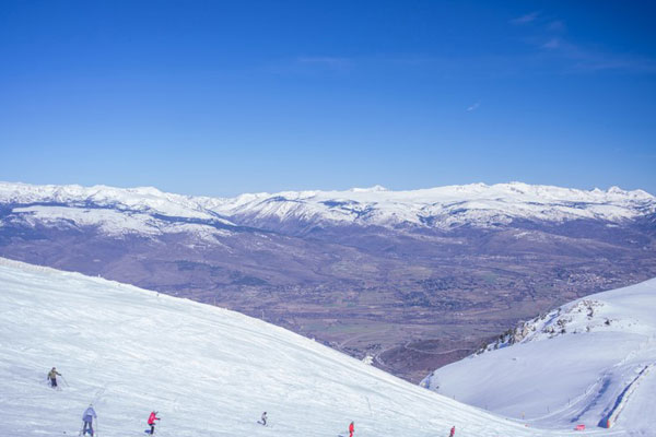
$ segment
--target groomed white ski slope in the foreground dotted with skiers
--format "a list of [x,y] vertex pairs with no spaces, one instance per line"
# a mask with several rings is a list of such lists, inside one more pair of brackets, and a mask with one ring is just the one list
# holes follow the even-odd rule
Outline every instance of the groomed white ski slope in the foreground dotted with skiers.
[[[52,366],[61,391],[46,383]],[[151,410],[162,437],[336,437],[351,421],[356,437],[581,435],[527,428],[237,312],[0,259],[0,436],[77,436],[90,402],[99,437],[143,436]]]

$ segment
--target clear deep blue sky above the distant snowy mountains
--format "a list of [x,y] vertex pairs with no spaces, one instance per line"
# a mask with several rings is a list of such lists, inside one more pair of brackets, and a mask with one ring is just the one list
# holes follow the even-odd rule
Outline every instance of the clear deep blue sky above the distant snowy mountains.
[[656,193],[640,1],[0,1],[0,180]]

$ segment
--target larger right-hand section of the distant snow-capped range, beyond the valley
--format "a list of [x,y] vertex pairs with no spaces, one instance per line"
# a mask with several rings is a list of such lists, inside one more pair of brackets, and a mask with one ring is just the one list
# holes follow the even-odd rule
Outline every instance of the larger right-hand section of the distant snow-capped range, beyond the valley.
[[656,208],[645,191],[575,190],[520,182],[388,191],[382,187],[349,191],[301,191],[246,194],[218,205],[224,214],[308,222],[379,226],[411,224],[448,229],[471,224],[493,226],[516,218],[562,222],[576,218],[622,221]]

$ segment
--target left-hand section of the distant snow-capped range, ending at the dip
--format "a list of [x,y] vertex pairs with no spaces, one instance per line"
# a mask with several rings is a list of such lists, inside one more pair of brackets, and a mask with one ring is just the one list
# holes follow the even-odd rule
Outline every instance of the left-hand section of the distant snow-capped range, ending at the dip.
[[230,235],[235,226],[204,206],[212,203],[209,198],[165,193],[155,188],[0,182],[2,203],[13,205],[14,217],[10,220],[17,216],[28,225],[59,228],[94,226],[113,236],[186,233],[212,238]]

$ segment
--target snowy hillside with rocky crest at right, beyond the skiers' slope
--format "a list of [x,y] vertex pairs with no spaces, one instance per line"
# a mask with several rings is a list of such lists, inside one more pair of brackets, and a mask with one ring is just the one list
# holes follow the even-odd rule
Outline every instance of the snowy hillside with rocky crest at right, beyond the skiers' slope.
[[[520,323],[423,385],[542,427],[656,435],[656,279]],[[613,414],[614,413],[614,414]]]

